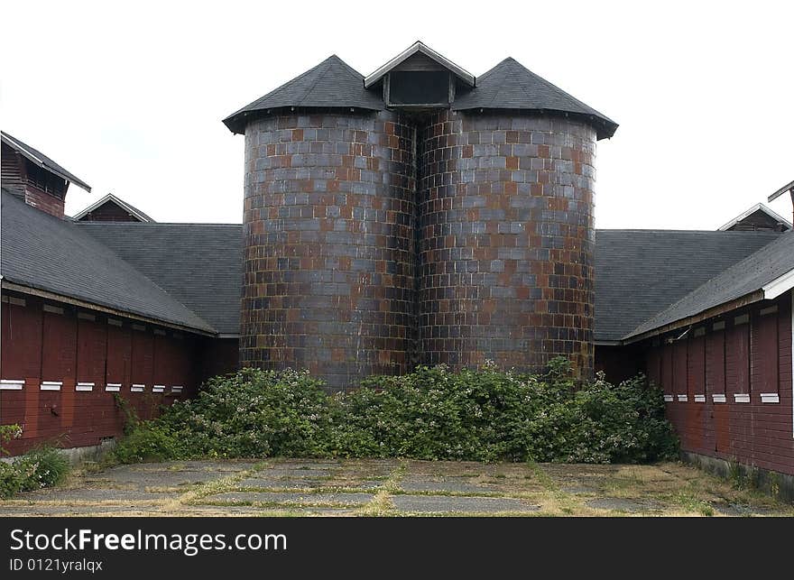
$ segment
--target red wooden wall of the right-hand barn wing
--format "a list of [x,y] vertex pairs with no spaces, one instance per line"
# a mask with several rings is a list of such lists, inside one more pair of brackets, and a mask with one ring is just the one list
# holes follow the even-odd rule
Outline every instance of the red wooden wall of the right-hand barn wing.
[[651,343],[684,451],[794,474],[791,306],[789,291]]

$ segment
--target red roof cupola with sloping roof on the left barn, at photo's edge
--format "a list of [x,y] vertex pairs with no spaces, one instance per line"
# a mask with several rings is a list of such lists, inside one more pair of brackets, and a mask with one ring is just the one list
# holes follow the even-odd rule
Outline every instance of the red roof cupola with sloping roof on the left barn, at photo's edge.
[[86,182],[10,134],[0,132],[0,141],[0,181],[3,189],[23,199],[27,205],[52,216],[63,217],[69,183],[91,191]]

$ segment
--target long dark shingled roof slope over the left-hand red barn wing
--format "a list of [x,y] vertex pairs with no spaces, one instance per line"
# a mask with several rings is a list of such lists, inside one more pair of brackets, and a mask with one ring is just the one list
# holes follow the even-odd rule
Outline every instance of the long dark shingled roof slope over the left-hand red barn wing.
[[[77,223],[2,192],[3,282],[189,330],[215,329]],[[239,285],[239,284],[238,284]]]

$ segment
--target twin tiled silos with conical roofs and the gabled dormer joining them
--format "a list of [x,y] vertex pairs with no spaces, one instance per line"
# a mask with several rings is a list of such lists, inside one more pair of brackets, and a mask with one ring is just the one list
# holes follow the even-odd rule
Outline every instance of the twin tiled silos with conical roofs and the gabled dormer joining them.
[[617,124],[512,59],[337,57],[245,133],[240,362],[331,389],[413,364],[593,373],[595,142]]

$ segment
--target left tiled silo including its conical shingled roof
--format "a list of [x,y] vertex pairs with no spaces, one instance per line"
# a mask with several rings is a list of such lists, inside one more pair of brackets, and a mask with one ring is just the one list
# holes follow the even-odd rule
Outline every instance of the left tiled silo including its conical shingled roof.
[[227,120],[245,132],[240,363],[340,390],[408,369],[414,136],[341,60],[312,71]]

